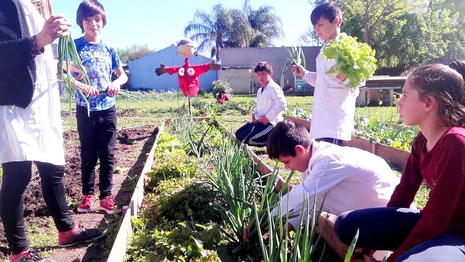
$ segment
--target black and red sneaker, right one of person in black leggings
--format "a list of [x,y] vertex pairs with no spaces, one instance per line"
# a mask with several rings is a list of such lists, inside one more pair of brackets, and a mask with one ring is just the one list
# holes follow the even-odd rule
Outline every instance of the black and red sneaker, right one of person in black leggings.
[[97,228],[87,229],[83,226],[75,226],[69,233],[58,232],[58,246],[71,247],[79,243],[92,242],[104,236],[105,234]]

